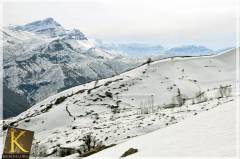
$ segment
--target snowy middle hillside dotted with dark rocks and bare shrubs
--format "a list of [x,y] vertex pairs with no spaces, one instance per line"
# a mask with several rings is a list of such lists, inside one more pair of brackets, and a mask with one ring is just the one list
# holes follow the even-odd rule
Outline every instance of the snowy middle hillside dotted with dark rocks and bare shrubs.
[[[164,130],[216,107],[234,105],[235,59],[235,50],[231,50],[214,56],[172,57],[146,63],[120,75],[60,92],[5,120],[3,127],[35,131],[34,144],[45,145],[46,154],[52,156],[59,155],[64,148],[83,149],[82,139],[89,133],[103,145],[119,144],[154,130]],[[235,112],[228,115],[231,113]],[[201,130],[204,129],[209,127],[202,125]],[[174,130],[166,131],[171,135]],[[194,134],[188,127],[185,131]],[[165,137],[165,143],[171,143],[167,141],[171,136]],[[133,148],[142,151],[142,147]],[[212,155],[219,156],[217,152]]]

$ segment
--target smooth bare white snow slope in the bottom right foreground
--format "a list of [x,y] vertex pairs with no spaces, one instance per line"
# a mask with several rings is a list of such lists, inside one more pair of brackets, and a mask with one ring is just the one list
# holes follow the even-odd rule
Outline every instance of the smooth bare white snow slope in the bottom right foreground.
[[234,157],[236,124],[236,102],[231,101],[88,158],[119,159],[129,148],[138,149],[138,152],[125,158]]

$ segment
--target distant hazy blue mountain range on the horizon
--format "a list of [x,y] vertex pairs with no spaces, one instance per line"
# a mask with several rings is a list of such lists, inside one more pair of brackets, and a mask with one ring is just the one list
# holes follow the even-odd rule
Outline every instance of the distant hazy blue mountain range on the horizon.
[[[127,54],[133,57],[170,57],[170,56],[199,56],[216,53],[204,46],[184,45],[173,48],[164,48],[161,45],[147,43],[110,43],[93,40],[100,48],[110,52]],[[225,50],[229,50],[225,49]],[[219,53],[219,51],[217,51]]]

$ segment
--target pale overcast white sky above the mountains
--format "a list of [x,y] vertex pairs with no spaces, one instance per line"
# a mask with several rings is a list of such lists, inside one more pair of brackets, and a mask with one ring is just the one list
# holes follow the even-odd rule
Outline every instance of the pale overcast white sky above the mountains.
[[6,0],[3,7],[4,25],[53,17],[103,41],[212,49],[236,43],[236,0]]

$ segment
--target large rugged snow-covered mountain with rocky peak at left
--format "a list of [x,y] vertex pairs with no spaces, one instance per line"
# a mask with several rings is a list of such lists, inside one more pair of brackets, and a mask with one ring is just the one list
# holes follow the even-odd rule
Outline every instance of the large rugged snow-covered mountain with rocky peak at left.
[[[26,97],[30,104],[137,65],[123,55],[96,47],[78,29],[67,30],[52,18],[5,27],[1,34],[4,86]],[[9,105],[4,103],[4,107]]]

